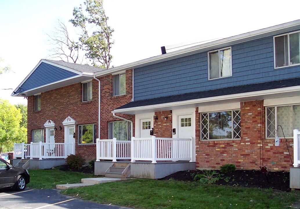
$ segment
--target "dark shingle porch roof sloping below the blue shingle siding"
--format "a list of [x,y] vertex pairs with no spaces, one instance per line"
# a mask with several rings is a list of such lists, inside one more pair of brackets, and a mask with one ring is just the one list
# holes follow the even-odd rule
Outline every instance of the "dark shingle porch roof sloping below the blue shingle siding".
[[283,79],[283,80],[275,80],[275,81],[269,81],[264,83],[247,84],[242,86],[233,86],[233,87],[227,87],[223,89],[213,89],[213,90],[207,90],[201,92],[192,92],[186,94],[178,94],[178,95],[164,96],[159,98],[132,101],[116,109],[158,105],[158,104],[164,104],[170,102],[188,101],[192,99],[210,98],[210,97],[223,96],[223,95],[234,95],[240,93],[257,92],[257,91],[264,91],[264,90],[271,90],[271,89],[281,89],[281,88],[292,87],[292,86],[300,86],[300,77]]

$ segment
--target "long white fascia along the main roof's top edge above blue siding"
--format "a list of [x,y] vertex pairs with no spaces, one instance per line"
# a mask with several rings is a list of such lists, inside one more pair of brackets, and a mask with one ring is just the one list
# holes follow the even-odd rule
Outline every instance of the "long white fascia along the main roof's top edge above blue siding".
[[[205,49],[205,48],[208,48],[208,47],[213,47],[213,46],[218,46],[218,45],[221,45],[221,44],[226,44],[226,43],[232,42],[232,41],[239,41],[239,40],[242,40],[242,39],[251,38],[253,36],[259,36],[259,35],[263,35],[265,33],[270,33],[270,32],[280,30],[280,29],[286,29],[286,28],[293,27],[293,26],[298,26],[298,25],[300,25],[300,20],[295,20],[295,21],[292,21],[292,22],[289,22],[289,23],[283,23],[283,24],[280,24],[280,25],[271,26],[271,27],[268,27],[268,28],[265,28],[265,29],[260,29],[260,30],[256,30],[256,31],[253,31],[253,32],[243,33],[241,35],[236,35],[236,36],[232,36],[232,37],[229,37],[229,38],[223,38],[223,39],[220,39],[220,40],[217,40],[217,41],[212,41],[212,42],[201,44],[201,45],[198,45],[198,46],[194,46],[194,47],[190,47],[190,48],[170,52],[170,53],[167,53],[167,54],[154,56],[154,57],[143,59],[143,60],[140,60],[140,61],[137,61],[137,62],[132,62],[132,63],[126,64],[126,65],[121,65],[119,67],[108,69],[108,71],[106,71],[106,73],[113,72],[113,71],[118,71],[118,70],[132,69],[132,68],[135,68],[137,66],[146,65],[147,63],[157,62],[157,61],[163,60],[163,59],[172,59],[172,57],[175,57],[175,56],[180,56],[180,55],[186,56],[185,54],[192,54],[193,52],[195,52],[197,50],[202,50],[202,49]],[[195,52],[195,53],[198,53],[198,52]],[[100,73],[95,73],[95,75],[97,77],[101,76],[102,74],[103,73],[101,73],[101,72]]]

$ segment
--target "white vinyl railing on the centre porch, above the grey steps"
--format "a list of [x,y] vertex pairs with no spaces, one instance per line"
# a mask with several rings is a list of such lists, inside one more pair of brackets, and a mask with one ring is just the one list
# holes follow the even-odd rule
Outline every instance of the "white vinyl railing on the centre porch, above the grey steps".
[[152,161],[157,160],[188,160],[192,162],[193,138],[132,138],[131,141],[117,141],[116,138],[97,139],[97,161],[109,159],[116,162],[117,159],[131,159]]

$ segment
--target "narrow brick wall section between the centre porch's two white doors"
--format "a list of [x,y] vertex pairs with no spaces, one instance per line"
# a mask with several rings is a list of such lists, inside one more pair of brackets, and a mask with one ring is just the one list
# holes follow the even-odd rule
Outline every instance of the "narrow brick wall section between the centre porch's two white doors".
[[[157,120],[153,122],[154,135],[161,138],[172,138],[172,111],[158,111],[154,113]],[[168,117],[165,119],[165,117]]]

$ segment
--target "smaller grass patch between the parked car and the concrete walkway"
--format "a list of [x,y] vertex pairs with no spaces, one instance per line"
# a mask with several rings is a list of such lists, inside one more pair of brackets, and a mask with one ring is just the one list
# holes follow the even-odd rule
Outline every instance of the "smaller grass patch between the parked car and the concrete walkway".
[[58,169],[29,170],[30,183],[27,185],[35,189],[55,189],[56,184],[81,183],[82,178],[93,178],[93,174]]

